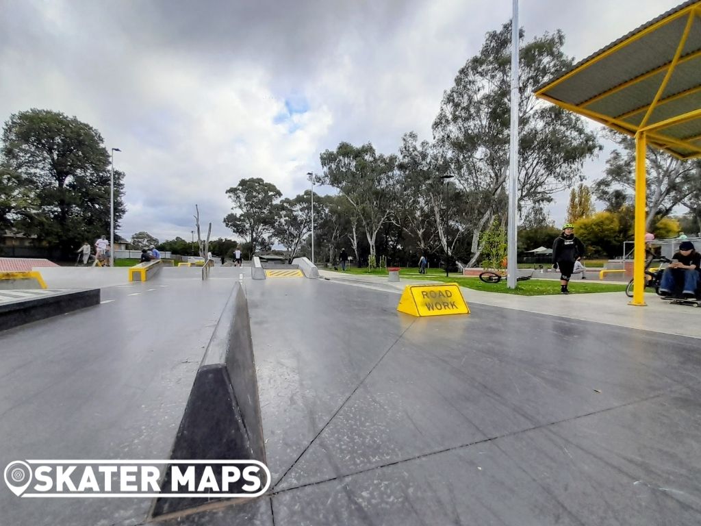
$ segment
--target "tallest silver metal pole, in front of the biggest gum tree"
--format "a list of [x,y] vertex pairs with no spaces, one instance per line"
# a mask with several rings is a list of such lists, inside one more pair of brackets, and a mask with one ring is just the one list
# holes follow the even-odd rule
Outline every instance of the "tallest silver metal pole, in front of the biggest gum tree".
[[513,0],[511,18],[511,152],[509,155],[508,278],[506,286],[516,288],[517,188],[519,182],[519,0]]

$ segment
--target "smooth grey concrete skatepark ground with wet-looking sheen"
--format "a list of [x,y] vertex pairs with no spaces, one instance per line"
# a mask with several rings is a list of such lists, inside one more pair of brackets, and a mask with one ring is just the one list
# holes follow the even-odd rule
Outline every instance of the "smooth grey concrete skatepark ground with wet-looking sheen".
[[[159,521],[700,520],[696,309],[637,309],[620,292],[543,302],[462,289],[470,314],[415,318],[396,310],[404,282],[252,274],[165,268],[102,288],[95,306],[0,332],[4,465],[168,458],[240,290],[271,487]],[[14,525],[155,520],[151,499],[0,498]]]

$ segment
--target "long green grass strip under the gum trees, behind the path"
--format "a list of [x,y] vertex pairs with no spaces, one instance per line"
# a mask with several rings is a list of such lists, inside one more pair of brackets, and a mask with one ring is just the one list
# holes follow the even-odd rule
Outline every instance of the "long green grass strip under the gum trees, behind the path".
[[[328,270],[328,269],[327,269]],[[340,274],[343,272],[339,271]],[[345,274],[356,274],[358,276],[387,276],[385,269],[358,269],[352,267]],[[426,269],[426,275],[418,274],[418,268],[401,269],[400,276],[411,279],[426,279],[428,281],[442,281],[444,283],[458,283],[461,287],[486,292],[502,292],[503,294],[516,294],[520,296],[545,296],[560,293],[560,282],[554,279],[531,279],[529,281],[519,281],[515,289],[507,288],[506,279],[499,283],[484,283],[477,277],[464,277],[461,274],[450,274],[445,276],[441,269]],[[582,280],[571,281],[570,292],[575,294],[588,294],[590,292],[623,292],[627,284],[608,285],[608,283],[592,283]]]

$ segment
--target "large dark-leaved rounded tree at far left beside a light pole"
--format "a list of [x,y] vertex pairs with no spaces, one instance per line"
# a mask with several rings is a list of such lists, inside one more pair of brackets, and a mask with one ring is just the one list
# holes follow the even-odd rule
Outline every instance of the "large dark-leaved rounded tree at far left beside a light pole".
[[[2,142],[0,165],[24,186],[23,231],[64,253],[109,232],[109,154],[95,128],[60,112],[31,109],[10,116]],[[115,171],[115,229],[125,213],[123,177]]]

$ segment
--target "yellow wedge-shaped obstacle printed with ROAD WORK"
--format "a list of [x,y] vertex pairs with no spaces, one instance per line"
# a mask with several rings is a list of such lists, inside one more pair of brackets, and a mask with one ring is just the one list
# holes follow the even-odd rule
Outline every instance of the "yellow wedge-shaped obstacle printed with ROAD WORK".
[[407,285],[397,305],[397,311],[411,314],[411,316],[470,313],[457,283]]

